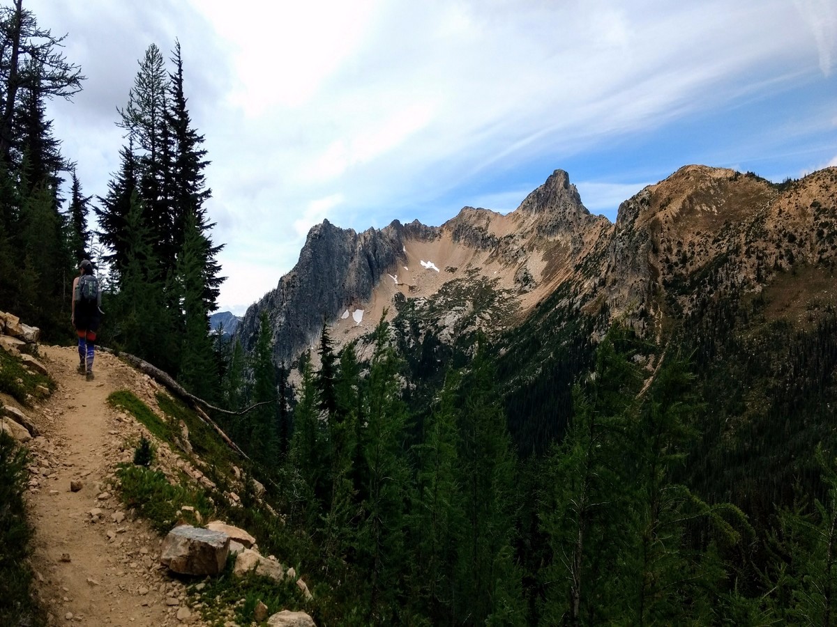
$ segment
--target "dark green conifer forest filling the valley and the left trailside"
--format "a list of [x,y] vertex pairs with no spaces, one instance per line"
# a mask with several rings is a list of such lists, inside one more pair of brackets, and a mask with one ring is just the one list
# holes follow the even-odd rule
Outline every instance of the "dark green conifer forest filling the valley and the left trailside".
[[446,345],[399,307],[367,359],[324,324],[316,360],[277,366],[266,318],[251,354],[209,334],[221,245],[179,44],[151,43],[102,121],[126,142],[94,198],[45,115],[82,69],[19,0],[0,37],[3,309],[69,343],[90,258],[101,343],[239,412],[213,417],[279,504],[319,624],[834,623],[833,310],[799,326],[723,293],[652,341],[559,291]]

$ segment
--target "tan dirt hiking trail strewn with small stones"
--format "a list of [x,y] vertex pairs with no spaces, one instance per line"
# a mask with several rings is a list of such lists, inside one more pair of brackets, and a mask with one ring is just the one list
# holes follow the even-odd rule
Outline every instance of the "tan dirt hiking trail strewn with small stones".
[[74,347],[41,346],[39,360],[58,384],[33,412],[40,436],[29,443],[32,562],[49,624],[203,625],[160,565],[161,538],[110,483],[116,464],[132,460],[141,426],[107,397],[128,389],[155,408],[157,385],[99,351],[94,380],[76,371]]

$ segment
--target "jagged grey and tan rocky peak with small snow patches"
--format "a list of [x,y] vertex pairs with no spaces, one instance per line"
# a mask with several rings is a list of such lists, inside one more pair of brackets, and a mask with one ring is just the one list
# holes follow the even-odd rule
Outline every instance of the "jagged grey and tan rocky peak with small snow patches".
[[[324,320],[343,343],[367,332],[385,308],[392,317],[393,299],[427,303],[456,283],[487,285],[503,294],[506,313],[526,314],[611,229],[582,205],[564,171],[507,216],[465,207],[441,227],[395,221],[360,234],[326,220],[309,232],[295,268],[248,309],[239,337],[251,348],[264,312],[277,364],[290,364],[314,343]],[[513,319],[503,315],[483,326],[502,328]]]

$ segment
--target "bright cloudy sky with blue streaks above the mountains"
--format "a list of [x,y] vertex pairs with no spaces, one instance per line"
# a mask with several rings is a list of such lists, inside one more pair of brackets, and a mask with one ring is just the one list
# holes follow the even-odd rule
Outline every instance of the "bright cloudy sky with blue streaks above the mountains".
[[[133,6],[136,5],[136,6]],[[24,0],[88,77],[50,104],[86,194],[118,167],[151,43],[189,108],[243,313],[327,218],[358,231],[513,210],[561,168],[591,212],[680,166],[837,165],[837,0]]]

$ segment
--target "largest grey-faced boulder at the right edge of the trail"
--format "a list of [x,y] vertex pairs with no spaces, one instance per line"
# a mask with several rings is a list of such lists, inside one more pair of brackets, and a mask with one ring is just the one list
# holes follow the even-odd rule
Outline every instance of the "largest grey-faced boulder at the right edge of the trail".
[[229,536],[209,529],[181,525],[162,543],[160,563],[175,573],[216,575],[227,563]]

